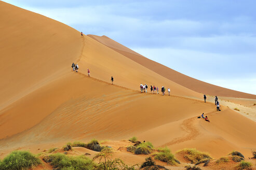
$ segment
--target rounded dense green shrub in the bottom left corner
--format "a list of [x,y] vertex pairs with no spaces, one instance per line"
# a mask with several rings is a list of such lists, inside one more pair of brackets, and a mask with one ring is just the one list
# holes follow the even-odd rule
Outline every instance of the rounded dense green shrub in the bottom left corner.
[[0,163],[0,169],[25,170],[42,164],[41,160],[29,151],[13,151]]

